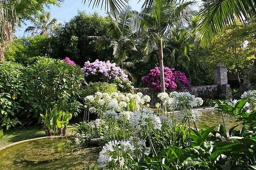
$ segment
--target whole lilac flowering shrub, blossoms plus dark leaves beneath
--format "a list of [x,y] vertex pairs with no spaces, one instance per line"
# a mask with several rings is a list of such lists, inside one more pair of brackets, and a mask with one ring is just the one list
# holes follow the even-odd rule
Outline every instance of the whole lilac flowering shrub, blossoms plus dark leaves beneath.
[[116,66],[116,63],[99,61],[99,59],[96,59],[93,63],[87,61],[82,71],[87,82],[116,83],[120,89],[132,88],[127,74]]

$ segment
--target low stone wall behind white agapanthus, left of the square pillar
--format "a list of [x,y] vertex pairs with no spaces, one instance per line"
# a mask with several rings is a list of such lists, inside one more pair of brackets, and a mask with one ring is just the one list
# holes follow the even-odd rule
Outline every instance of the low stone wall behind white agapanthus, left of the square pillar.
[[[220,94],[218,85],[195,86],[195,87],[192,87],[189,91],[191,94],[194,94],[196,97],[201,97],[203,99],[218,98]],[[157,98],[157,94],[159,92],[155,91],[155,89],[153,88],[135,88],[134,92],[135,93],[141,92],[143,94],[149,95],[151,97],[151,101],[150,101],[151,106],[154,106],[155,103],[160,102],[159,98]]]

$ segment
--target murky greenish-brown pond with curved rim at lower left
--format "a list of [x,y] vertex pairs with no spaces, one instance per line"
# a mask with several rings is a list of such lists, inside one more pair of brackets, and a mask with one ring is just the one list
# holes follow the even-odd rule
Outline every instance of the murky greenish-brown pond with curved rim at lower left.
[[0,169],[83,169],[94,166],[99,147],[80,148],[71,138],[48,138],[0,151]]

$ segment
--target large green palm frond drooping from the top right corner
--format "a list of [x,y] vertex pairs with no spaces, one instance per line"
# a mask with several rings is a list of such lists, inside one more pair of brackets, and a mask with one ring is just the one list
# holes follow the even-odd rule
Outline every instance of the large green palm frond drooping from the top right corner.
[[199,13],[199,25],[196,37],[201,46],[209,47],[216,33],[223,31],[236,19],[248,23],[250,18],[256,16],[256,0],[216,0],[208,4]]

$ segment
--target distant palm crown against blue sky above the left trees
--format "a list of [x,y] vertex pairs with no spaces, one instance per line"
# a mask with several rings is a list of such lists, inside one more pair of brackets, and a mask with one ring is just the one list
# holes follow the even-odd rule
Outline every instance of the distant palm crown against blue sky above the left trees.
[[53,29],[57,26],[57,19],[53,18],[51,21],[50,12],[42,12],[37,14],[31,21],[34,26],[29,26],[26,28],[25,33],[31,33],[32,36],[42,35],[49,36]]

